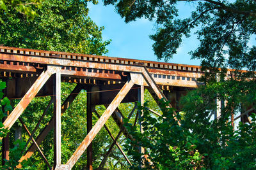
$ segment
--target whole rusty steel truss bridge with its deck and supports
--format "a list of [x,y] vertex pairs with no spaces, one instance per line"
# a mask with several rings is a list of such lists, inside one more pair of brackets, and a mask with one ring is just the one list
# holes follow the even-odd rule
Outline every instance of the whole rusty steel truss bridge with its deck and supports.
[[[124,116],[118,110],[118,105],[135,101],[143,103],[144,89],[147,88],[155,99],[169,99],[171,101],[170,107],[173,106],[179,111],[177,102],[180,96],[186,95],[188,90],[201,85],[196,80],[203,74],[204,72],[200,70],[199,66],[0,46],[0,76],[2,81],[6,81],[5,96],[10,99],[21,98],[19,104],[8,115],[3,124],[5,128],[10,129],[19,119],[30,136],[27,146],[30,141],[33,142],[19,162],[28,159],[38,150],[49,169],[52,169],[52,166],[54,169],[71,169],[87,150],[88,169],[92,169],[92,141],[100,129],[104,127],[113,139],[113,144],[102,160],[100,167],[104,166],[104,162],[106,162],[114,145],[131,164],[117,143],[118,136],[122,132],[127,138],[132,139],[132,136],[123,126]],[[77,84],[62,104],[60,100],[61,81]],[[88,134],[68,162],[61,162],[61,115],[83,89],[87,92],[104,91],[104,95],[102,93],[87,93]],[[52,96],[52,98],[35,129],[29,132],[25,125],[26,122],[21,120],[20,115],[36,96]],[[54,104],[54,116],[34,139],[35,131],[52,103]],[[100,104],[106,106],[101,117],[95,110],[95,106]],[[129,117],[134,110],[136,110],[136,106]],[[159,115],[154,110],[150,111]],[[92,113],[95,113],[99,118],[93,127]],[[248,115],[247,112],[243,114]],[[120,127],[120,132],[116,137],[105,125],[109,117],[113,117]],[[51,129],[54,129],[54,165],[49,164],[40,148],[40,143],[44,141]],[[3,139],[2,150],[3,158],[8,159],[8,139],[6,138]],[[141,152],[143,152],[143,148],[141,148]]]

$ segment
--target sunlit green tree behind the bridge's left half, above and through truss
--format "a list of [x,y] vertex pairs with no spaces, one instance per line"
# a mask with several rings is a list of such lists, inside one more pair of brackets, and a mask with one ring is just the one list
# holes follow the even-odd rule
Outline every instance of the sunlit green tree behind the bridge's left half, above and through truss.
[[[14,2],[14,1],[13,1]],[[18,2],[18,1],[17,1]],[[22,1],[24,5],[28,5],[31,10],[35,11],[34,18],[26,17],[24,13],[16,9],[17,3],[11,3],[4,1],[6,8],[0,10],[0,16],[3,20],[3,24],[0,25],[0,44],[5,46],[16,46],[21,48],[34,48],[40,50],[55,50],[63,52],[76,52],[102,55],[108,52],[106,46],[110,41],[104,41],[102,39],[102,30],[104,27],[98,27],[88,17],[87,3],[90,1],[42,1],[40,8],[30,2],[40,1]],[[92,1],[93,4],[97,4],[97,1]],[[7,11],[6,11],[7,10]],[[74,89],[74,85],[70,83],[62,83],[62,101],[65,100],[67,94]],[[62,135],[63,135],[63,162],[67,162],[72,152],[76,150],[77,145],[83,141],[86,136],[86,97],[84,92],[77,96],[77,99],[72,104],[71,109],[63,115],[62,121]],[[26,122],[29,131],[33,131],[36,121],[39,120],[47,103],[49,103],[50,97],[38,97],[33,99],[31,104],[22,114],[22,119]],[[19,100],[12,101],[13,106],[17,104]],[[52,117],[52,107],[45,115],[44,120],[40,124],[39,130],[35,136],[44,128]],[[33,113],[33,115],[31,115]],[[97,121],[95,118],[93,122]],[[19,122],[16,125],[20,126]],[[75,126],[77,125],[77,126]],[[68,128],[70,127],[70,128]],[[112,129],[113,130],[113,129]],[[113,132],[115,134],[115,131]],[[44,153],[52,164],[53,160],[53,145],[52,143],[53,131],[49,133],[45,141],[42,143]],[[11,148],[15,148],[15,144],[12,141],[14,139],[14,131],[10,131]],[[28,139],[28,135],[23,133],[22,139],[25,141]],[[93,145],[93,150],[102,154],[102,148],[104,143],[108,139],[111,143],[111,139],[108,138],[108,134],[105,131],[100,132],[97,136],[96,143]],[[15,148],[16,152],[17,149]],[[16,155],[18,157],[18,155]],[[99,159],[95,155],[95,160]],[[35,156],[31,159],[33,165],[39,169],[45,169],[44,161],[39,156],[39,153],[35,153]],[[17,161],[14,161],[17,164]],[[35,163],[36,162],[36,163]],[[31,164],[29,164],[31,165]],[[15,167],[15,166],[13,166]],[[79,160],[74,167],[80,169],[86,167],[86,154]]]

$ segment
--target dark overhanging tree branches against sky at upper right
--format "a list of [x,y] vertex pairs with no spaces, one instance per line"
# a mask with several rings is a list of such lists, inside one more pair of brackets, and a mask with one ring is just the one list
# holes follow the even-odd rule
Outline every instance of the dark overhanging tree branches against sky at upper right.
[[[196,6],[188,18],[179,18],[177,4]],[[203,66],[246,68],[255,70],[256,46],[250,38],[256,34],[256,2],[254,0],[104,0],[115,5],[125,22],[148,18],[157,24],[153,48],[158,59],[169,60],[177,48],[196,29],[200,45],[191,53]]]

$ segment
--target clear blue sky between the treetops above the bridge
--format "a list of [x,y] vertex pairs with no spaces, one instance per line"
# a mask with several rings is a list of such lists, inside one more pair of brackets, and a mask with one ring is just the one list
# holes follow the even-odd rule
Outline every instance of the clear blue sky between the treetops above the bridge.
[[[115,8],[111,5],[104,6],[102,1],[99,4],[88,4],[89,16],[99,26],[104,26],[102,31],[104,40],[111,39],[111,44],[108,46],[109,57],[122,57],[128,59],[141,59],[157,61],[156,55],[152,50],[152,41],[148,35],[154,34],[154,22],[150,22],[144,18],[125,24],[124,18],[121,18],[115,12]],[[193,9],[191,4],[180,4],[180,17],[188,17]],[[195,35],[185,39],[177,54],[168,62],[179,64],[199,65],[199,60],[191,60],[188,52],[193,50],[198,45],[198,40]],[[163,60],[162,60],[163,61]]]

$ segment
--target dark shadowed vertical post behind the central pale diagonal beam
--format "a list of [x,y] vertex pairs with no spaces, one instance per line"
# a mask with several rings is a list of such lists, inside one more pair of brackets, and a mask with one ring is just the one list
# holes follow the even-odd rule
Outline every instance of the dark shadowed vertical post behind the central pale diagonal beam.
[[[89,87],[87,90],[87,134],[92,130],[92,88]],[[92,170],[92,142],[87,148],[87,169]]]

